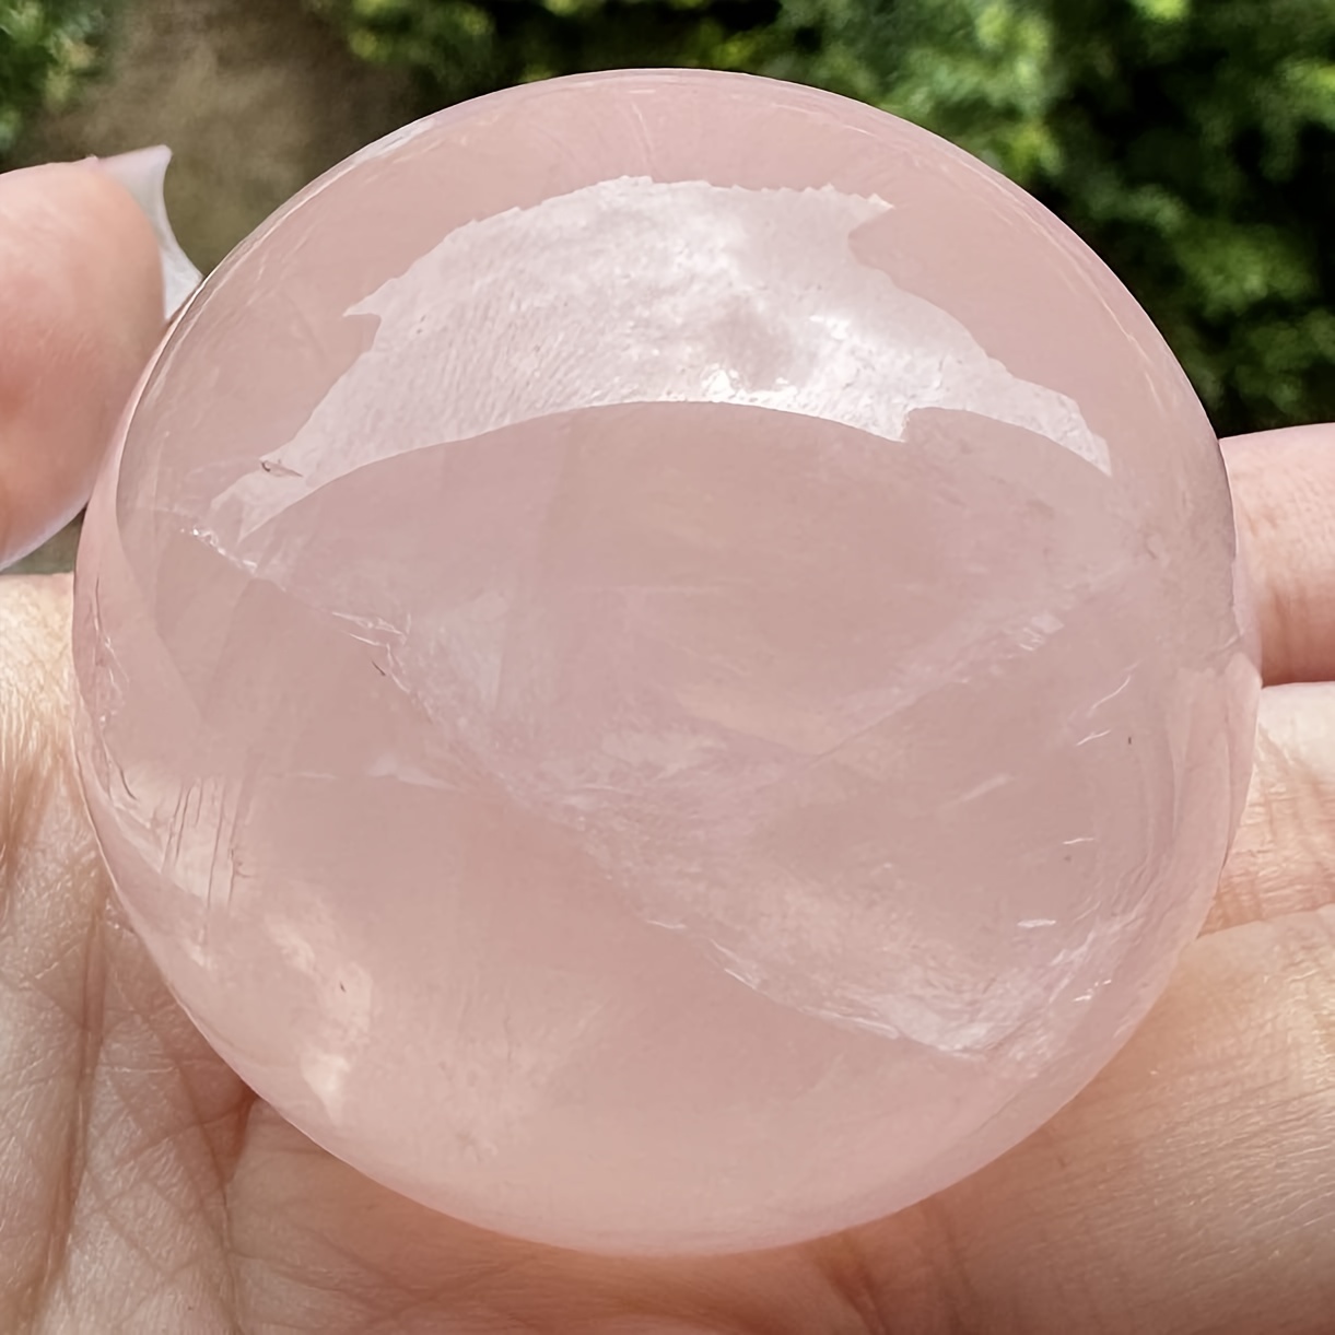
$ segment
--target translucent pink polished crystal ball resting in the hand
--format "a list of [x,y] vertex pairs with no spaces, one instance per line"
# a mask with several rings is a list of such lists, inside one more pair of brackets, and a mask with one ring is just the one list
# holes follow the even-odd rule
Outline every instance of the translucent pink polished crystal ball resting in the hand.
[[459,1219],[906,1206],[1199,929],[1258,692],[1216,441],[1108,270],[878,111],[533,84],[316,182],[163,344],[79,557],[125,910]]

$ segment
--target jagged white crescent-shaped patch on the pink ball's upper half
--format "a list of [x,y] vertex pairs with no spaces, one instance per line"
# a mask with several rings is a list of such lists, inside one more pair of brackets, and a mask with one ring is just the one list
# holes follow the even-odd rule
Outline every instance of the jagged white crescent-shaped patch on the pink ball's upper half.
[[1072,399],[853,258],[852,234],[890,208],[621,178],[459,227],[347,312],[376,318],[371,346],[270,470],[219,498],[220,535],[378,459],[623,403],[766,407],[890,441],[920,409],[975,411],[1109,471]]

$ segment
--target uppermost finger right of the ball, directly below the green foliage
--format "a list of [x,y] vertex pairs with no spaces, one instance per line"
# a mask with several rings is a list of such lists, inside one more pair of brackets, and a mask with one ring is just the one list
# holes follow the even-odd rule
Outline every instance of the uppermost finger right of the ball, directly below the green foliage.
[[1335,425],[1223,442],[1268,684],[1335,680]]

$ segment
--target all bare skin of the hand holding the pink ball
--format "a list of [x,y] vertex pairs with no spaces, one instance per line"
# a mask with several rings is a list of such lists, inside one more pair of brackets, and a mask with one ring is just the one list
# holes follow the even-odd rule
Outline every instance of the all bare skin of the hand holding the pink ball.
[[[0,550],[87,493],[159,334],[92,167],[0,178]],[[1328,1332],[1335,429],[1228,442],[1266,690],[1210,921],[1116,1061],[1012,1153],[782,1252],[617,1262],[433,1215],[212,1055],[108,893],[67,753],[69,583],[0,581],[0,1331]]]

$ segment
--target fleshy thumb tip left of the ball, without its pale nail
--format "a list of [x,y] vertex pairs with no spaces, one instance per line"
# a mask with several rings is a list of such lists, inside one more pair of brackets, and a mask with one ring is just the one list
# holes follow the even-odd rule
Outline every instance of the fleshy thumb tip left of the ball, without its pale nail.
[[88,498],[162,310],[152,230],[105,172],[0,176],[0,565]]

